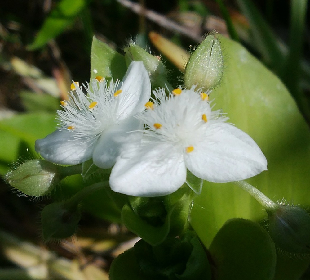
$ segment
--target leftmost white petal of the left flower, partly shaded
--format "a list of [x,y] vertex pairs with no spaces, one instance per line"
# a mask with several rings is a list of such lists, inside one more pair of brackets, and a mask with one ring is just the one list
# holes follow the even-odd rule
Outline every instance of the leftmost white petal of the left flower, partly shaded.
[[35,150],[46,160],[57,164],[79,164],[93,154],[95,140],[74,138],[72,131],[55,130],[36,140]]

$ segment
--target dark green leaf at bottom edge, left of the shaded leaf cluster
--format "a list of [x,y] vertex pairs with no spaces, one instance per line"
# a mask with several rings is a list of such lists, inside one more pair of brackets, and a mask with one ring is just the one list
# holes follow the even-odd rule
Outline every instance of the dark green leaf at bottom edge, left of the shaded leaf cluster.
[[148,280],[140,272],[133,248],[113,260],[109,274],[110,280]]

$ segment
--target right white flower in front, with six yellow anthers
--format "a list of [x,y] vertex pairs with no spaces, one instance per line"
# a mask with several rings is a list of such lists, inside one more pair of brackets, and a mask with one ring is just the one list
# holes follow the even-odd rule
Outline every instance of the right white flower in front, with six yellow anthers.
[[133,196],[176,191],[187,169],[210,182],[246,179],[267,170],[267,160],[249,135],[212,111],[207,93],[176,89],[167,97],[153,91],[142,139],[123,146],[112,169],[110,187]]

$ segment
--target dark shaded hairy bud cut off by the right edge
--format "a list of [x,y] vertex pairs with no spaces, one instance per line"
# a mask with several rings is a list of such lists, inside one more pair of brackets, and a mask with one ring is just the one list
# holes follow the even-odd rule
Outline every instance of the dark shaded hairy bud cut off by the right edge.
[[310,216],[296,206],[279,205],[268,211],[269,234],[283,250],[310,253]]

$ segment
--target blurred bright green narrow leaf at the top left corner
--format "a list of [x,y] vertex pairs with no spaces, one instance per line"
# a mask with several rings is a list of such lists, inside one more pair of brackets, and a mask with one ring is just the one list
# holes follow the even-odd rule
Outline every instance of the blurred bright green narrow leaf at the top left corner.
[[44,21],[34,42],[27,48],[29,50],[41,48],[48,41],[61,34],[65,28],[74,22],[85,5],[85,0],[61,0]]

